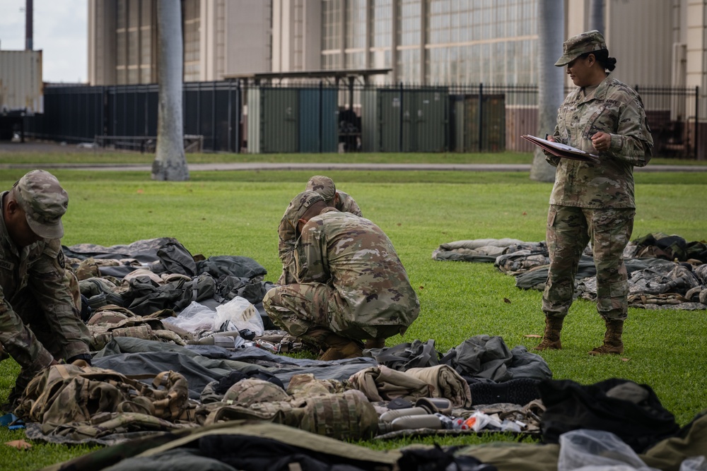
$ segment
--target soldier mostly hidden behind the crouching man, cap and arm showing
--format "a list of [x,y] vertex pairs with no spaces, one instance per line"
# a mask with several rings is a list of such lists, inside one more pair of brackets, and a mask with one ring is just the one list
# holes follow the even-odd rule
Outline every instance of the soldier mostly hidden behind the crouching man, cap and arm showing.
[[[363,214],[361,214],[361,208],[358,208],[358,204],[356,204],[354,198],[351,198],[349,194],[344,193],[343,191],[337,190],[334,180],[329,177],[315,175],[307,182],[305,191],[314,191],[315,193],[319,193],[320,196],[322,196],[322,198],[324,198],[327,202],[327,205],[332,206],[332,208],[337,208],[339,211],[344,211],[344,213],[363,216]],[[280,226],[277,229],[277,235],[279,237],[278,254],[280,260],[282,261],[282,275],[280,275],[278,284],[287,285],[295,280],[293,276],[293,251],[297,237],[294,229],[286,222],[284,217],[280,221]]]

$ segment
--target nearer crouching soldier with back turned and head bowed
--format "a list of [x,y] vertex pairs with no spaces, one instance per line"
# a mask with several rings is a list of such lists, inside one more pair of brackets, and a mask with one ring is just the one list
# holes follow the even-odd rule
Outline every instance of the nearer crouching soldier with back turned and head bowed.
[[417,318],[420,304],[390,239],[363,217],[327,206],[303,191],[284,220],[297,235],[296,282],[274,287],[263,306],[291,335],[324,350],[320,359],[383,347]]

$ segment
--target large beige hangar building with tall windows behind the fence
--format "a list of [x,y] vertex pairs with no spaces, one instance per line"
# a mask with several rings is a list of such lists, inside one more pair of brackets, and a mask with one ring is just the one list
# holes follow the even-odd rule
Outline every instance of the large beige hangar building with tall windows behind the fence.
[[[185,81],[388,69],[374,83],[537,83],[539,0],[182,0]],[[565,0],[566,37],[592,0]],[[90,85],[156,83],[156,2],[88,0]],[[707,0],[604,0],[615,75],[707,90]]]

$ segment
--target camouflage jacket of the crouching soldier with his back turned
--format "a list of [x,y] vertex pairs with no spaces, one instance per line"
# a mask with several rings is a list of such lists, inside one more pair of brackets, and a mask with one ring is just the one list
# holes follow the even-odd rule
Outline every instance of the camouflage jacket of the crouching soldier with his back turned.
[[[298,282],[334,287],[359,326],[403,326],[419,314],[417,294],[385,233],[367,219],[327,208],[303,227]],[[402,330],[404,332],[404,329]]]

